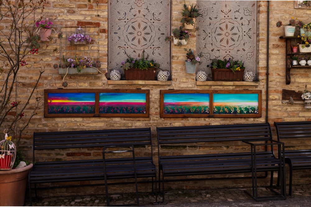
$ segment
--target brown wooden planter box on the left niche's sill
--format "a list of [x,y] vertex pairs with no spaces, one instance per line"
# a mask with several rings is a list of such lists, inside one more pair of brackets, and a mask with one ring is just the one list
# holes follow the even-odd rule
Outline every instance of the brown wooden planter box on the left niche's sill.
[[124,74],[125,80],[156,80],[156,68],[148,68],[148,70],[130,68],[124,70]]

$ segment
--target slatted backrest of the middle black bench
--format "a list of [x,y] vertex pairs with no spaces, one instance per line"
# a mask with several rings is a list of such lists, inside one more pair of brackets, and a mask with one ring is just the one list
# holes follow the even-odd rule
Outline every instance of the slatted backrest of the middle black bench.
[[161,146],[183,143],[272,140],[269,123],[230,124],[157,128],[159,157]]

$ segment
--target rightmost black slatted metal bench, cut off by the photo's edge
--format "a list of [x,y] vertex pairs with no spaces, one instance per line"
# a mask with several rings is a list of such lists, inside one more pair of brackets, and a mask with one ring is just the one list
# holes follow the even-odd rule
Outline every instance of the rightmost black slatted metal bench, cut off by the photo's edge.
[[[293,170],[311,169],[311,122],[274,122],[274,126],[277,139],[285,143],[285,163],[290,173],[288,194],[291,196]],[[297,138],[301,140],[298,142]]]

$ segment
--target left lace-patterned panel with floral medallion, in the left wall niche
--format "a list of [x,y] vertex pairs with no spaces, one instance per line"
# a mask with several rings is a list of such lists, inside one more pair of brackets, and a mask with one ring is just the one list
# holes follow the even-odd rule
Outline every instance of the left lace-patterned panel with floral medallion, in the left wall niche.
[[[108,71],[121,68],[127,55],[155,60],[170,71],[170,0],[110,0],[108,3]],[[124,74],[124,72],[123,72]],[[123,76],[124,78],[124,76]]]

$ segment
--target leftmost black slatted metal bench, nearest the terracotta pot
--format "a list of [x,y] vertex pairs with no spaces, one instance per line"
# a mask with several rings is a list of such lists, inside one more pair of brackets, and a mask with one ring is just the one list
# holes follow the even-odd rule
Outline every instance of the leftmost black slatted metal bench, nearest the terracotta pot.
[[[111,149],[109,155],[107,148]],[[43,160],[47,155],[51,159]],[[29,173],[30,204],[32,189],[37,197],[40,188],[105,185],[109,205],[109,184],[135,183],[137,194],[137,178],[139,182],[152,182],[152,191],[156,192],[156,166],[152,155],[151,128],[34,133],[34,166]],[[90,182],[81,184],[82,181]],[[66,185],[37,186],[56,182],[66,182]],[[135,205],[139,205],[138,202],[137,196]]]

